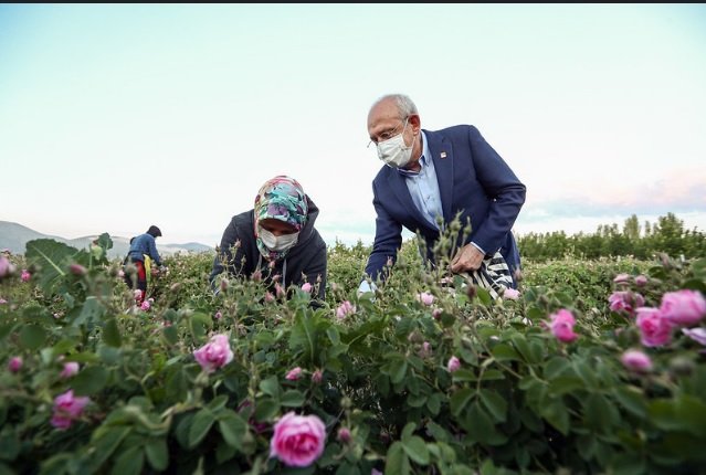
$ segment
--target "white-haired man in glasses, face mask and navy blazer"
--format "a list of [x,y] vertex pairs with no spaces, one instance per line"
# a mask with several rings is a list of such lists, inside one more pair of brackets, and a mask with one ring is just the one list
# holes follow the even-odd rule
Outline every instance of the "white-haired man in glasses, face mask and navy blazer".
[[[434,242],[460,212],[462,231],[450,271],[474,275],[474,282],[487,277],[498,291],[517,288],[520,258],[512,226],[526,188],[478,129],[456,125],[424,130],[414,103],[390,94],[370,107],[368,134],[384,162],[372,180],[376,235],[365,272],[373,287],[387,277],[388,260],[397,260],[402,226],[424,239],[433,263]],[[468,219],[471,234],[461,241]],[[359,293],[371,289],[363,278]]]

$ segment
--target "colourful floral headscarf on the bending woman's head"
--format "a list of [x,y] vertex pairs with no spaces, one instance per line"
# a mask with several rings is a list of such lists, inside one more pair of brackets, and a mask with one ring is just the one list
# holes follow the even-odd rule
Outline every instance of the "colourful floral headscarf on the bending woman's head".
[[260,220],[274,219],[293,225],[302,231],[308,217],[306,194],[298,181],[283,175],[274,177],[263,184],[255,197],[255,242],[260,253],[268,261],[284,258],[287,251],[271,251],[259,235]]

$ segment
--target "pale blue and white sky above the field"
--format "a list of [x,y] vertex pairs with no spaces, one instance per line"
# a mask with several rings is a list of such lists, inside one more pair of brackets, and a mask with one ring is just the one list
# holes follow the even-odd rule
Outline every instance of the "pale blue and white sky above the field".
[[370,244],[388,93],[478,128],[527,187],[518,235],[706,231],[697,3],[3,3],[0,221],[215,246],[288,175],[328,245]]

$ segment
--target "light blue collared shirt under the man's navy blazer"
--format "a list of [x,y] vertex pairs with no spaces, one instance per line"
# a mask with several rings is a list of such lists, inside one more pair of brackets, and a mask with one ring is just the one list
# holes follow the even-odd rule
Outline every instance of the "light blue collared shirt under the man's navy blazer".
[[[439,230],[439,223],[436,218],[442,218],[443,226],[443,211],[441,208],[441,192],[439,191],[439,180],[436,180],[436,170],[434,169],[434,160],[432,159],[429,145],[426,144],[426,136],[422,134],[422,156],[419,159],[419,165],[422,167],[419,171],[411,171],[398,168],[398,172],[404,177],[407,189],[410,190],[412,201],[417,209],[426,219],[429,224],[435,230]],[[443,231],[440,230],[440,231]]]

